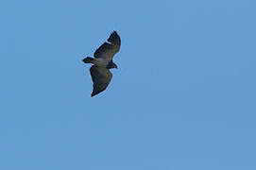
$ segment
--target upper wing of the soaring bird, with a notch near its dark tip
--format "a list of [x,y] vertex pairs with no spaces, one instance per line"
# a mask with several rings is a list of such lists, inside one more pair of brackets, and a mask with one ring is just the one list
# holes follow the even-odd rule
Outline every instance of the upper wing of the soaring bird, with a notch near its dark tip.
[[119,51],[121,45],[121,39],[116,31],[111,33],[108,42],[104,42],[94,52],[94,58],[104,58],[111,61],[113,56]]

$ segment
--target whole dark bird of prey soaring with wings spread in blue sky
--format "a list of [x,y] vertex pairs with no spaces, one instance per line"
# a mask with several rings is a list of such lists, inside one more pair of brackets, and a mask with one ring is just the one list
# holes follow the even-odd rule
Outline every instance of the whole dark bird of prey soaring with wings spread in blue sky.
[[83,59],[84,63],[93,63],[90,73],[94,82],[94,90],[91,96],[103,92],[111,82],[111,68],[117,65],[112,61],[113,56],[120,50],[121,39],[116,31],[111,33],[108,42],[104,42],[94,52],[94,58]]

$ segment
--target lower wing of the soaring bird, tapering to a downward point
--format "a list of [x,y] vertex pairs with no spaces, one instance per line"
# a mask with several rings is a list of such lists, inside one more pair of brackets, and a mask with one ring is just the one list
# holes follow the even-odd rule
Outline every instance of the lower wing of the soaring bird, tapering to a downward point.
[[91,96],[103,92],[111,82],[112,74],[109,69],[93,65],[90,73],[94,81],[94,90]]

